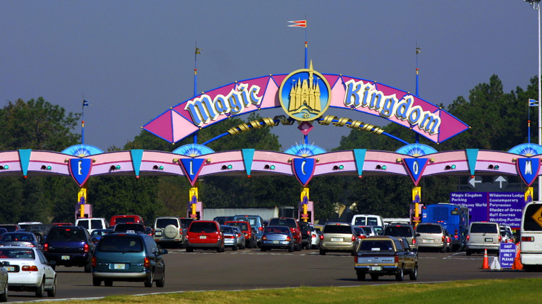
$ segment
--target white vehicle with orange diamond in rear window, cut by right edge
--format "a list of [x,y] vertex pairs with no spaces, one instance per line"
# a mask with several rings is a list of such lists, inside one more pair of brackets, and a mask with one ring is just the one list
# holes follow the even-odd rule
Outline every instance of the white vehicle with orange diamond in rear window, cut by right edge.
[[542,271],[542,201],[525,205],[521,214],[520,260],[525,271]]

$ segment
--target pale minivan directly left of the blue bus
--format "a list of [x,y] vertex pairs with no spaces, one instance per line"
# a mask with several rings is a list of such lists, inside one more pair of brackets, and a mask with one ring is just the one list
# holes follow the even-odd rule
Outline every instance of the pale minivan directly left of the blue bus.
[[450,252],[450,235],[440,223],[418,223],[416,226],[416,242],[420,251],[424,249],[434,249],[441,252]]

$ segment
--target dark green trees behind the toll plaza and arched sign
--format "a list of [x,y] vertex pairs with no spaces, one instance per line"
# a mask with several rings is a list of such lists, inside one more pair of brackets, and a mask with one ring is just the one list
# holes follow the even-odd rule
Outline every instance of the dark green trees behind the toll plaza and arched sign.
[[[434,144],[422,137],[419,142],[437,151],[469,148],[508,151],[518,144],[526,143],[529,113],[527,101],[537,99],[537,85],[538,79],[533,77],[525,90],[518,86],[507,93],[498,76],[493,75],[488,83],[480,83],[470,90],[468,98],[458,96],[447,107],[440,105],[471,126],[470,130],[442,144]],[[80,117],[80,113],[65,112],[64,108],[45,101],[43,97],[29,101],[8,101],[0,109],[0,151],[63,151],[68,146],[80,143],[81,135],[74,133]],[[247,121],[260,118],[253,113]],[[198,141],[206,142],[244,122],[240,117],[235,117],[205,128],[199,132]],[[391,123],[381,128],[407,142],[416,140],[415,133],[397,124]],[[532,121],[532,142],[538,142],[537,128],[537,122]],[[186,138],[172,145],[142,130],[122,148],[111,146],[108,151],[173,151],[192,142],[192,138]],[[270,128],[222,137],[208,146],[214,151],[247,148],[282,150],[279,138],[270,132]],[[349,135],[341,138],[334,151],[395,151],[401,146],[401,142],[390,137],[351,130]],[[450,192],[458,191],[458,185],[465,184],[467,179],[468,176],[422,178],[422,203],[449,201]],[[509,182],[520,183],[520,179],[510,177]],[[95,216],[108,219],[115,214],[140,214],[145,221],[151,222],[159,216],[186,217],[188,189],[191,186],[186,178],[179,176],[145,176],[139,179],[99,176],[90,178],[87,187],[87,200],[92,204]],[[297,207],[302,190],[299,182],[289,176],[207,176],[198,181],[198,187],[199,200],[204,202],[206,208]],[[310,199],[315,202],[315,218],[320,221],[337,219],[337,212],[345,209],[352,210],[354,214],[408,217],[412,187],[412,180],[404,176],[316,176],[309,183]],[[78,190],[71,177],[2,177],[0,222],[74,222]]]

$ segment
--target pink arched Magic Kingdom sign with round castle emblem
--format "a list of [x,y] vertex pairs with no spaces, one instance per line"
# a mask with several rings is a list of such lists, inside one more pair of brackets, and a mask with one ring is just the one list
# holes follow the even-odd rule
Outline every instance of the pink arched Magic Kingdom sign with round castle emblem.
[[297,121],[315,121],[329,108],[355,110],[393,121],[441,143],[468,129],[443,108],[409,92],[375,81],[320,74],[311,66],[290,74],[229,83],[174,105],[142,128],[179,142],[229,117],[283,108]]

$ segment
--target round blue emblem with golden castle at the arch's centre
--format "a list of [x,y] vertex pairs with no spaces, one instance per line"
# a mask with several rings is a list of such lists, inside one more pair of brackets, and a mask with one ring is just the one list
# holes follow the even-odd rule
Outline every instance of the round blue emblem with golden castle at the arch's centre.
[[322,74],[313,69],[298,69],[288,74],[279,88],[279,101],[289,117],[313,121],[322,116],[331,101],[331,87]]

